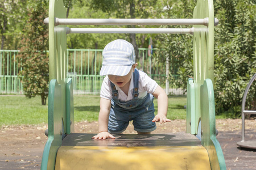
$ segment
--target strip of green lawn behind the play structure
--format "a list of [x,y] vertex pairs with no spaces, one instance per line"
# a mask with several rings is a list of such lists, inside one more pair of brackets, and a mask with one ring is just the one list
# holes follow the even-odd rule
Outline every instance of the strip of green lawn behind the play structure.
[[[167,117],[171,120],[185,119],[186,98],[168,99]],[[157,113],[157,100],[154,100]],[[48,105],[48,102],[47,102]],[[25,96],[0,96],[0,127],[6,125],[40,125],[48,122],[48,106],[41,105],[40,96],[27,99]],[[100,111],[99,96],[74,96],[75,121],[97,121]]]

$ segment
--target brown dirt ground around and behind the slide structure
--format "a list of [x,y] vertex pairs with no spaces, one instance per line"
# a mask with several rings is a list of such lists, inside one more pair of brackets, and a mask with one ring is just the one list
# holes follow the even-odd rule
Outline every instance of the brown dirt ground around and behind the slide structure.
[[[241,141],[240,119],[216,120],[217,136],[224,152],[227,169],[254,169],[255,151],[241,150],[236,143]],[[157,123],[153,133],[176,133],[185,131],[185,120],[170,123]],[[246,139],[256,139],[256,120],[246,120]],[[40,169],[43,148],[47,137],[44,131],[47,125],[4,126],[0,129],[0,169]],[[79,122],[75,124],[75,133],[97,133],[98,122]],[[133,125],[125,133],[133,134]]]

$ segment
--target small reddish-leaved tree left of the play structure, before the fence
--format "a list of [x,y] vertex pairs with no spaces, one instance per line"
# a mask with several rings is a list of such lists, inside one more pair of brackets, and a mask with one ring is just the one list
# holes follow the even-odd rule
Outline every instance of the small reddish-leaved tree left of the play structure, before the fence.
[[43,23],[48,15],[46,7],[48,5],[42,1],[30,9],[18,55],[24,93],[28,98],[40,95],[42,105],[46,104],[49,83],[48,26]]

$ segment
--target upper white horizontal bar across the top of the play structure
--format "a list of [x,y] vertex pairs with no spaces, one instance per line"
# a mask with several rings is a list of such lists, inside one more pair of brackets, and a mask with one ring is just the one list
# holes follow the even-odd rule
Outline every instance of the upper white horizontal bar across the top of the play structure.
[[[44,19],[49,23],[49,18]],[[57,25],[205,25],[208,26],[209,18],[204,19],[71,19],[55,18]],[[218,19],[214,18],[214,25]]]

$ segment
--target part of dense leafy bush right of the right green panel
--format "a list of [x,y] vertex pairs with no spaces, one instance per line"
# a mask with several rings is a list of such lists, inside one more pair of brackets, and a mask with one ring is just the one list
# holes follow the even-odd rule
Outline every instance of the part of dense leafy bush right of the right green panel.
[[[256,73],[255,13],[253,1],[216,1],[215,15],[215,101],[216,111],[241,113],[242,96]],[[256,86],[250,88],[247,109],[252,105]]]

